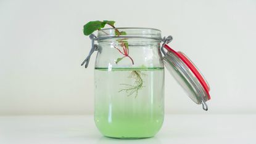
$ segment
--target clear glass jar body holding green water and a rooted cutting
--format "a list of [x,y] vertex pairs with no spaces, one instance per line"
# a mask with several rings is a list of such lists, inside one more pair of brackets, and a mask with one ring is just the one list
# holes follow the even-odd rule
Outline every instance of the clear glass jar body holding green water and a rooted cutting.
[[94,70],[94,121],[106,137],[146,138],[164,117],[161,31],[102,29]]

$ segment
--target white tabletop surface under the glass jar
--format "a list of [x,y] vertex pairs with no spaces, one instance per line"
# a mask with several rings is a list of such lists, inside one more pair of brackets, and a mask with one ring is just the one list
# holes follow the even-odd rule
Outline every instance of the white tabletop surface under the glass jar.
[[0,143],[256,143],[256,114],[166,115],[153,138],[103,137],[93,116],[0,116]]

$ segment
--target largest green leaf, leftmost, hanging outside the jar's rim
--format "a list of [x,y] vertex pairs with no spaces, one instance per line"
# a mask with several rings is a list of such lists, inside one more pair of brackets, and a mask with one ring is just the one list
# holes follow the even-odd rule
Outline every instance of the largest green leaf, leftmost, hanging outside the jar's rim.
[[83,26],[83,34],[88,36],[89,34],[92,34],[96,30],[101,30],[101,28],[104,28],[105,22],[101,22],[99,20],[91,21],[86,23],[86,25]]

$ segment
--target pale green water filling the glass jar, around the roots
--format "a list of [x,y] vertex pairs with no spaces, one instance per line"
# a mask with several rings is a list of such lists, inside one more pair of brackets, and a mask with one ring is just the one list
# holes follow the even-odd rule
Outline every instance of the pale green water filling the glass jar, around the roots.
[[[131,94],[122,89],[136,85],[134,71],[142,86]],[[163,123],[163,76],[163,68],[96,68],[94,121],[99,131],[114,138],[157,134]]]

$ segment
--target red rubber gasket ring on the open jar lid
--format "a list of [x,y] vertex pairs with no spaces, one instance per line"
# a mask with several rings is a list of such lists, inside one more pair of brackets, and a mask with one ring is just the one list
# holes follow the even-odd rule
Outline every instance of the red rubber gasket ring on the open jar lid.
[[186,56],[184,56],[181,52],[176,52],[175,50],[171,49],[171,47],[169,47],[167,44],[165,44],[163,47],[165,47],[165,49],[167,49],[170,52],[173,52],[175,55],[177,55],[188,66],[188,68],[192,71],[192,73],[194,73],[194,75],[196,76],[196,78],[198,79],[198,81],[200,82],[202,87],[204,87],[204,90],[207,93],[208,100],[210,100],[210,98],[211,98],[210,94],[209,94],[210,89],[209,89],[207,83],[205,82],[204,78],[202,77],[202,75],[199,73],[199,71],[197,71],[196,66],[194,66],[190,62],[190,60],[188,58],[186,58]]

